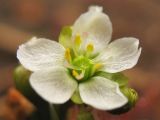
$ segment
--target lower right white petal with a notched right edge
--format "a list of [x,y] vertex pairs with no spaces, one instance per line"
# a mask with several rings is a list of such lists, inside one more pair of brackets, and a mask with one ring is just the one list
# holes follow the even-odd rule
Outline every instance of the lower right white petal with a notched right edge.
[[103,77],[94,77],[79,85],[82,101],[100,110],[112,110],[127,103],[117,83]]

